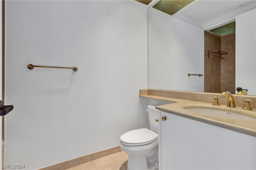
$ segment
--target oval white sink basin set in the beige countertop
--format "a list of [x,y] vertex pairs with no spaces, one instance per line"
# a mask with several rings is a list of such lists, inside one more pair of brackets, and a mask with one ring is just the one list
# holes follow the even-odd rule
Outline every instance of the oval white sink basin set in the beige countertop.
[[255,117],[250,117],[247,115],[242,115],[239,113],[229,112],[229,111],[221,111],[216,109],[205,109],[205,108],[186,108],[188,111],[192,111],[194,113],[198,113],[204,116],[210,117],[218,117],[224,119],[232,119],[232,120],[242,120],[242,121],[256,121]]

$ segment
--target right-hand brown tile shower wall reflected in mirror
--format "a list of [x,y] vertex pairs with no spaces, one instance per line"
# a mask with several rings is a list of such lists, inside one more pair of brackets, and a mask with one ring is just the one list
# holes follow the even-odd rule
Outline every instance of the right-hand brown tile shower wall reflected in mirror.
[[221,51],[228,52],[221,60],[221,91],[230,91],[236,94],[236,34],[221,37]]

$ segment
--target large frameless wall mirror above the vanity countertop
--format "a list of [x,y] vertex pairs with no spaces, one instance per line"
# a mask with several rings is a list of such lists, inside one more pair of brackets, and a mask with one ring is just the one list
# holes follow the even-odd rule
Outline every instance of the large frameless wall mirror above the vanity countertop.
[[[149,89],[256,95],[255,0],[190,0],[172,15],[154,7],[160,1],[147,5]],[[228,37],[211,32],[233,22]],[[215,50],[228,54],[207,53]]]

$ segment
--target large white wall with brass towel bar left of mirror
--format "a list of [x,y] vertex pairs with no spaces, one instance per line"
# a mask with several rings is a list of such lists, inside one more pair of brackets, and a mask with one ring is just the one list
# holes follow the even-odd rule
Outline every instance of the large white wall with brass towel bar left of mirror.
[[[147,9],[127,1],[6,1],[5,164],[36,169],[146,127]],[[27,68],[28,64],[78,67]]]

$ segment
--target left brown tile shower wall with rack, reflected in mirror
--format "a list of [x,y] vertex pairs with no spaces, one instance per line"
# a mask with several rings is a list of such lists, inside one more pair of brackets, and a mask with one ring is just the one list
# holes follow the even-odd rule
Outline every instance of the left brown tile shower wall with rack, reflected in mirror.
[[[219,36],[204,32],[204,52],[221,49],[221,39]],[[204,58],[204,92],[220,93],[221,85],[221,62]]]

